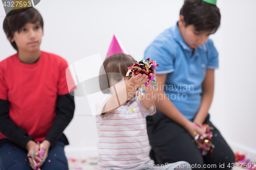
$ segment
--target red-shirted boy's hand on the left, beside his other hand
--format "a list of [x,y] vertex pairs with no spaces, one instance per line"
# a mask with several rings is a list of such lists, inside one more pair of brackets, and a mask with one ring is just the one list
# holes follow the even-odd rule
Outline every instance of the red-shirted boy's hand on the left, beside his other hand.
[[33,140],[28,141],[26,149],[28,150],[27,156],[32,169],[36,167],[36,164],[34,163],[32,158],[34,158],[36,162],[39,162],[39,164],[42,164],[42,160],[38,157],[39,145],[36,144],[36,142],[34,142]]

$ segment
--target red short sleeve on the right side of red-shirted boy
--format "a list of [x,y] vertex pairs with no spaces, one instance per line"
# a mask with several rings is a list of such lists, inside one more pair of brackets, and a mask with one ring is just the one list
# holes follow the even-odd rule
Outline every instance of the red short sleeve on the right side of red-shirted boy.
[[[62,60],[59,66],[59,78],[58,78],[58,95],[64,95],[69,93],[67,78],[66,78],[66,69],[68,68],[68,62],[66,60]],[[67,73],[68,74],[68,73]],[[69,81],[73,81],[69,80]],[[75,83],[74,83],[75,84]],[[76,89],[74,86],[70,92],[73,92]]]

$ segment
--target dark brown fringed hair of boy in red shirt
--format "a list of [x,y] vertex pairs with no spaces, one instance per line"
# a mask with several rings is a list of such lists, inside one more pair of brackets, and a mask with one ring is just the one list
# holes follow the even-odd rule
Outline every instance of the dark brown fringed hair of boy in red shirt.
[[[14,32],[19,33],[20,29],[25,26],[26,23],[36,23],[39,22],[41,28],[44,28],[44,21],[40,13],[33,7],[22,8],[17,10],[11,10],[5,17],[4,20],[4,31],[7,38],[12,39]],[[18,51],[15,42],[11,42],[15,50]]]

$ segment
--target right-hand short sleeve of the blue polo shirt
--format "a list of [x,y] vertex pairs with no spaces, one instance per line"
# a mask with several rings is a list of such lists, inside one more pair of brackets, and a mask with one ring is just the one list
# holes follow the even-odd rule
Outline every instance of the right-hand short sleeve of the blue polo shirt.
[[219,53],[214,46],[214,42],[209,39],[207,44],[208,53],[208,65],[207,68],[216,69],[219,68]]

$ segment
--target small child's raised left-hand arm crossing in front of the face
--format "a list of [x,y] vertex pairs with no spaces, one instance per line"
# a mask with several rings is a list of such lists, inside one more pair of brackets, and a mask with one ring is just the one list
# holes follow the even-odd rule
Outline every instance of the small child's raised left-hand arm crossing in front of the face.
[[[115,89],[116,94],[113,94],[108,102],[106,102],[103,108],[103,113],[113,112],[120,106],[124,105],[126,101],[132,99],[135,91],[139,88],[139,86],[148,81],[147,77],[148,76],[146,76],[145,74],[138,74],[135,76],[133,72],[132,78],[129,81]],[[111,88],[114,88],[114,86],[112,86]],[[118,107],[115,106],[116,99],[119,103]]]

